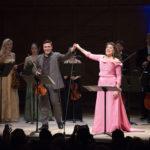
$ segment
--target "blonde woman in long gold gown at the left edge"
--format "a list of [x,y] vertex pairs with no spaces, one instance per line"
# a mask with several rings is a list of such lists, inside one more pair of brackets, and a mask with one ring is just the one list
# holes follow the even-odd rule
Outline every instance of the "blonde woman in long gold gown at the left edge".
[[[0,51],[1,63],[14,63],[15,53],[12,52],[13,41],[5,39]],[[17,65],[14,65],[7,77],[1,77],[1,122],[14,122],[19,120],[18,90],[11,87],[12,73]]]

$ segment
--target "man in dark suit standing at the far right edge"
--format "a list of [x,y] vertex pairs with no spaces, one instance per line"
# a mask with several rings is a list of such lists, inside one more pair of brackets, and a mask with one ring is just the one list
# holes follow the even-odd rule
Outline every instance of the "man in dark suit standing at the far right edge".
[[150,33],[147,34],[146,38],[147,45],[144,48],[139,49],[137,59],[136,59],[136,65],[137,67],[141,68],[142,78],[141,83],[143,87],[142,92],[142,117],[141,120],[147,119],[150,123],[150,112],[145,109],[144,107],[144,99],[146,96],[146,93],[150,91],[150,85],[149,85],[149,79],[150,79]]

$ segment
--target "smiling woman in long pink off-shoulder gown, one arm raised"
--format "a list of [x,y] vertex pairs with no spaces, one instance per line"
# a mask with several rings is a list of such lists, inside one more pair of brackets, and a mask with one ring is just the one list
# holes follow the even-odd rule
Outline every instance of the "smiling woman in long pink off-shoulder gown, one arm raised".
[[[98,86],[116,86],[120,88],[122,63],[115,57],[117,56],[117,49],[113,42],[107,43],[105,55],[92,54],[78,44],[74,44],[74,46],[86,57],[99,62]],[[104,121],[104,92],[98,91],[92,131],[94,133],[104,132]],[[119,91],[108,91],[106,94],[106,132],[113,132],[115,129],[131,131],[131,126],[126,115],[121,93]]]

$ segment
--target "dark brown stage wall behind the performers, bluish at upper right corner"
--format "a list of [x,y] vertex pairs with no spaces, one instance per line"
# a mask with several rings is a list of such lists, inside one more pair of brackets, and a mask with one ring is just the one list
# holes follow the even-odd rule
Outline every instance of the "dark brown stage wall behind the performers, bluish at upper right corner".
[[[145,45],[150,17],[144,10],[150,8],[144,6],[148,4],[148,0],[1,0],[0,44],[7,37],[14,41],[17,63],[24,61],[32,42],[41,46],[45,39],[51,39],[54,50],[62,53],[74,42],[104,53],[106,42],[122,39],[131,54]],[[97,62],[81,59],[85,63],[82,83],[97,84]]]

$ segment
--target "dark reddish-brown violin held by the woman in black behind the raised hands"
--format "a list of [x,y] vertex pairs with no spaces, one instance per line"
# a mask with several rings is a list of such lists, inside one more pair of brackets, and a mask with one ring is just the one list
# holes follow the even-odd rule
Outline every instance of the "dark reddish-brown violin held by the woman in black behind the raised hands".
[[70,99],[76,101],[81,98],[81,94],[79,93],[79,84],[71,83],[70,85]]

